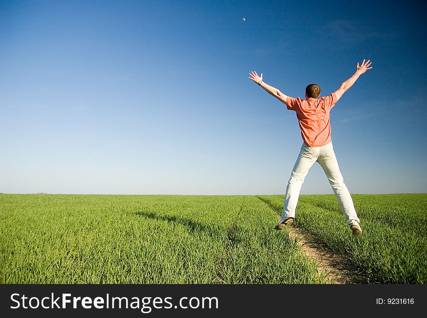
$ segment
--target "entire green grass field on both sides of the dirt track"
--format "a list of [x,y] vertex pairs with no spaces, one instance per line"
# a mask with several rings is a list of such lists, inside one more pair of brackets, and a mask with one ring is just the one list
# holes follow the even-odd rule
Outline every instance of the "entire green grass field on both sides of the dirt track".
[[[427,281],[427,195],[301,196],[295,224],[368,283]],[[283,196],[0,194],[2,284],[324,284],[287,230]]]

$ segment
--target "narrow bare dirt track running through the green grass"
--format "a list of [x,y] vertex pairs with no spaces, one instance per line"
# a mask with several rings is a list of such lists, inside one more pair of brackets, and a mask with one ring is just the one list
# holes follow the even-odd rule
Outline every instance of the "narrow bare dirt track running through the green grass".
[[[277,210],[269,201],[260,196],[255,197],[263,201],[271,210],[278,214],[278,219],[280,219],[281,211]],[[289,238],[295,240],[304,254],[316,263],[319,275],[326,275],[328,282],[332,284],[366,283],[363,274],[349,269],[352,267],[348,264],[344,255],[331,251],[326,244],[315,240],[295,225],[289,226],[288,229]]]

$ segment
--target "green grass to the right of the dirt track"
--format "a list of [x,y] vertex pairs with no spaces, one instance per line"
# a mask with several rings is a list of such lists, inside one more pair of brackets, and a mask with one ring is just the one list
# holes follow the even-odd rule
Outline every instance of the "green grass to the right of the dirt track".
[[[259,196],[280,211],[283,196]],[[300,196],[295,225],[362,272],[367,283],[427,282],[427,194],[352,195],[363,233],[348,234],[334,195]]]

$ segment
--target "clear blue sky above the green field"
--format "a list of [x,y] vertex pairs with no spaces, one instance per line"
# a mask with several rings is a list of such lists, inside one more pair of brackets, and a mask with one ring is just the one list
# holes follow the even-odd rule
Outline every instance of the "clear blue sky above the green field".
[[[366,58],[331,111],[345,183],[425,193],[425,38],[405,1],[0,1],[0,192],[284,194],[296,115],[249,72],[328,95]],[[301,193],[332,193],[319,165]]]

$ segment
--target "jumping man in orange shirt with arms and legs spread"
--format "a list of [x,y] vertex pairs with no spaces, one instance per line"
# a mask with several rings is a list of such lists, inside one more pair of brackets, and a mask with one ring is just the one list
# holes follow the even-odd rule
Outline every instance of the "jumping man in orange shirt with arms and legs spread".
[[304,141],[299,152],[294,169],[291,173],[286,187],[285,202],[283,213],[275,229],[282,230],[286,225],[291,224],[295,218],[296,204],[298,202],[299,191],[309,169],[317,161],[325,171],[329,183],[340,202],[345,221],[350,226],[354,235],[362,233],[360,220],[357,217],[353,200],[344,184],[338,162],[333,151],[330,137],[329,112],[335,103],[343,96],[361,74],[371,69],[370,60],[363,60],[359,66],[356,66],[356,72],[334,93],[327,97],[320,96],[320,87],[317,84],[310,84],[305,89],[305,100],[286,96],[279,89],[263,82],[263,73],[258,76],[256,71],[250,72],[249,79],[263,87],[269,94],[276,97],[287,105],[287,108],[296,112],[301,136]]

